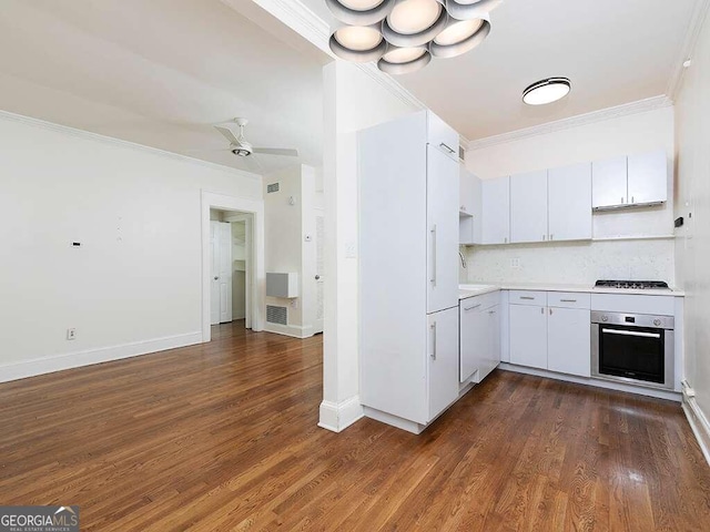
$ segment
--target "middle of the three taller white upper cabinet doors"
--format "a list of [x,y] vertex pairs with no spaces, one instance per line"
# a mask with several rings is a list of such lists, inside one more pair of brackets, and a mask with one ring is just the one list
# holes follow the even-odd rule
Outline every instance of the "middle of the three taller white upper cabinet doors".
[[547,241],[547,170],[510,177],[510,242]]

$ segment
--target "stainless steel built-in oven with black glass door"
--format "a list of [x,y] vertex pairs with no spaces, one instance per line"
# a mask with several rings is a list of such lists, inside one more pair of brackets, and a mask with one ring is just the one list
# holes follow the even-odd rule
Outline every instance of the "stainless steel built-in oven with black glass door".
[[673,389],[673,326],[672,316],[592,310],[591,375]]

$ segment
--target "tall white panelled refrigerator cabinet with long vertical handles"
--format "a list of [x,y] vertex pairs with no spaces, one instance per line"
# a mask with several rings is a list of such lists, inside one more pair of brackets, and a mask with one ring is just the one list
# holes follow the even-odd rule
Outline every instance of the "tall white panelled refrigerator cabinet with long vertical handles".
[[458,398],[457,156],[429,111],[358,133],[361,401],[415,433]]

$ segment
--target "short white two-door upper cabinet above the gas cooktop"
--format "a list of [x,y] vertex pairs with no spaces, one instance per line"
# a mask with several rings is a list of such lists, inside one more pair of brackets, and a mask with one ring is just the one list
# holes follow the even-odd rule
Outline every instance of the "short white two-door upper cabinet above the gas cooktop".
[[668,200],[668,162],[660,150],[592,163],[595,209],[653,205]]

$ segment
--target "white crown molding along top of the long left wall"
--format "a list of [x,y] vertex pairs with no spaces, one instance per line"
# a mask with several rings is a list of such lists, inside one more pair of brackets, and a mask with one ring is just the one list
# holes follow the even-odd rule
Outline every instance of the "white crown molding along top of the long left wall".
[[33,119],[31,116],[26,116],[23,114],[16,114],[9,111],[0,110],[0,120],[4,120],[8,122],[19,122],[21,124],[31,125],[34,127],[41,127],[48,131],[54,131],[57,133],[62,133],[65,135],[74,136],[78,139],[83,139],[88,141],[101,142],[103,144],[111,144],[120,147],[130,147],[132,150],[138,150],[145,153],[151,153],[153,155],[161,155],[166,158],[172,158],[174,161],[186,162],[191,164],[197,164],[200,166],[204,166],[211,170],[219,170],[220,172],[229,172],[235,175],[240,175],[242,177],[248,177],[251,180],[260,180],[262,176],[260,174],[254,174],[252,172],[246,172],[245,170],[235,168],[233,166],[225,166],[223,164],[211,163],[209,161],[203,161],[201,158],[190,157],[187,155],[182,155],[180,153],[168,152],[165,150],[161,150],[159,147],[146,146],[144,144],[138,144],[135,142],[123,141],[121,139],[115,139],[113,136],[101,135],[99,133],[92,133],[85,130],[79,130],[77,127],[71,127],[69,125],[57,124],[54,122],[48,122],[41,119]]

